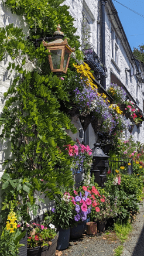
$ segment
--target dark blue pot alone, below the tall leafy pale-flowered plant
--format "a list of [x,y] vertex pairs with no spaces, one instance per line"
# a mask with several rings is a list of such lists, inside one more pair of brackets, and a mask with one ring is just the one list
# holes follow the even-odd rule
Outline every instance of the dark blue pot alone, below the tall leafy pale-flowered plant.
[[57,240],[57,250],[64,250],[68,247],[70,241],[70,227],[68,229],[60,228],[59,238]]

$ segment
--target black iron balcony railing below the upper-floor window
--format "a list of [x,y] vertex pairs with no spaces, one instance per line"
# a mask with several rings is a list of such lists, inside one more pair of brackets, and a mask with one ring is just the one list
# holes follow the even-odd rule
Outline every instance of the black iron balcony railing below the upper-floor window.
[[83,50],[85,56],[85,62],[94,70],[94,74],[98,80],[102,80],[103,77],[107,77],[107,68],[100,60],[98,55],[94,52],[94,49]]

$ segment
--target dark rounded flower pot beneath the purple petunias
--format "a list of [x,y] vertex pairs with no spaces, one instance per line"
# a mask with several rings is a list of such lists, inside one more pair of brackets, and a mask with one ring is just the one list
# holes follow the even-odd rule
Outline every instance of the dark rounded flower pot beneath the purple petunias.
[[86,221],[81,221],[81,223],[78,223],[77,226],[70,228],[71,239],[80,238],[81,235],[84,234],[85,227],[86,227]]

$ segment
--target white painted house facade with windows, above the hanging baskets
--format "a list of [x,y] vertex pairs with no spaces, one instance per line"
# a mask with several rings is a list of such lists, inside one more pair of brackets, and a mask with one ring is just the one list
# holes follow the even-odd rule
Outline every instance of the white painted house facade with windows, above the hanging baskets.
[[[85,43],[83,42],[83,35],[86,30],[86,32],[89,31],[87,33],[87,41],[92,44],[94,52],[102,62],[105,62],[107,78],[103,81],[103,86],[106,89],[111,83],[122,86],[129,100],[132,100],[143,114],[143,66],[133,57],[131,47],[112,0],[66,0],[63,4],[70,6],[69,11],[75,19],[74,26],[77,28],[77,35],[80,36],[82,49]],[[103,47],[104,49],[102,49]],[[105,56],[102,56],[104,52]],[[101,81],[99,82],[101,83]],[[76,121],[74,122],[76,123]],[[139,128],[136,125],[133,128],[132,136],[135,141],[144,142],[143,127],[144,124],[142,122]],[[80,127],[77,125],[77,128]],[[92,147],[97,136],[93,134],[91,125],[88,128],[89,132],[86,131],[88,141],[85,139],[85,142],[88,142]],[[130,135],[129,131],[125,132],[126,139]]]

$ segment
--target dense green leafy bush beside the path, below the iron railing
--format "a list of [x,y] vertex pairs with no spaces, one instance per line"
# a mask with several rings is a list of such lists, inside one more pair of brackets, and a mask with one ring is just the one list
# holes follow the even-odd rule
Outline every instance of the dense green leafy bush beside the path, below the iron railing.
[[117,219],[126,221],[139,210],[143,182],[138,176],[121,174],[121,185],[115,186],[112,184],[112,177],[108,177],[105,190],[109,192],[111,202],[116,198],[119,203]]

